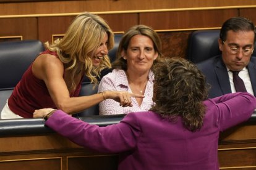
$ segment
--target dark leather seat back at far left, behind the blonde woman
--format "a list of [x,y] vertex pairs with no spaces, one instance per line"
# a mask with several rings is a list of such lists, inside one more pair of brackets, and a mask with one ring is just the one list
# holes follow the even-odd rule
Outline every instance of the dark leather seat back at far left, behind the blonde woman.
[[44,50],[38,40],[0,42],[0,111],[25,70]]

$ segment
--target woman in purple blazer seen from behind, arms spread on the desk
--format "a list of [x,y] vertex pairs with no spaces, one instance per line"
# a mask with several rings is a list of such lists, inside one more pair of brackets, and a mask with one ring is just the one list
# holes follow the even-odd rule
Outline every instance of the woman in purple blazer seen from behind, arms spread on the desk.
[[98,127],[49,108],[34,117],[45,116],[46,126],[76,144],[119,153],[119,169],[219,169],[219,132],[250,118],[254,96],[207,99],[204,76],[181,58],[164,59],[154,71],[155,105],[120,123]]

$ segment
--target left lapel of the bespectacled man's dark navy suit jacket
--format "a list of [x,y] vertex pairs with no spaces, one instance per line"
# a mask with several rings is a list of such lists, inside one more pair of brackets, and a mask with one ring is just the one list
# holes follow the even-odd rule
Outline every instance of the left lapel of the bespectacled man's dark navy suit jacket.
[[228,71],[221,59],[221,56],[216,62],[215,73],[223,94],[231,93]]

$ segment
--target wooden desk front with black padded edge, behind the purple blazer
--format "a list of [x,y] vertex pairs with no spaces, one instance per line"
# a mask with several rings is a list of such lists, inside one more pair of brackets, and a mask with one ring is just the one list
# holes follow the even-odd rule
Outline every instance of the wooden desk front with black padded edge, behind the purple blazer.
[[[221,169],[256,169],[255,116],[220,134]],[[117,123],[121,116],[88,116],[92,124]],[[59,136],[41,119],[0,120],[0,169],[117,169],[117,155],[93,152]]]

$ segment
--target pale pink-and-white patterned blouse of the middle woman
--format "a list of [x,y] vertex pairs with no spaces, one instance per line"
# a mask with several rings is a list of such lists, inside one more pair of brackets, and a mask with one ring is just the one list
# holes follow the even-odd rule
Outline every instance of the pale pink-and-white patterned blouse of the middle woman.
[[[100,115],[117,115],[127,114],[130,112],[148,111],[153,105],[153,71],[150,70],[148,73],[148,82],[146,85],[145,97],[142,100],[141,105],[137,102],[135,97],[132,97],[132,107],[122,107],[118,102],[112,99],[106,99],[100,102]],[[108,75],[103,76],[98,86],[98,92],[103,91],[127,91],[132,92],[129,87],[126,72],[124,70],[114,69]]]

